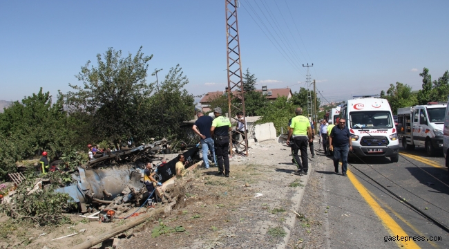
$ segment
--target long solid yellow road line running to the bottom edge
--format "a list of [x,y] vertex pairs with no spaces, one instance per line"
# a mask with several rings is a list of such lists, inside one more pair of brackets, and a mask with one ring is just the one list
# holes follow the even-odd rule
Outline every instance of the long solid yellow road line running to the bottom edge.
[[[363,187],[363,185],[357,180],[357,178],[350,172],[349,170],[346,172],[347,177],[350,178],[350,181],[352,185],[356,188],[357,191],[361,194],[363,199],[370,205],[374,213],[381,219],[383,226],[390,232],[392,237],[408,237],[408,234],[405,233],[405,231],[401,228],[401,226],[392,219],[390,215],[388,215],[383,208],[381,208],[381,205],[374,201],[372,196],[367,192],[367,189]],[[397,245],[399,247],[403,248],[420,248],[417,243],[414,243],[414,241],[396,241]]]

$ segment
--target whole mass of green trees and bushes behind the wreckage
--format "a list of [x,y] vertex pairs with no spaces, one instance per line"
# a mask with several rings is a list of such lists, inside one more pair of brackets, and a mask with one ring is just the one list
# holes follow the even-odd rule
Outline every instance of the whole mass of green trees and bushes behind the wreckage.
[[42,151],[76,167],[88,144],[113,149],[130,140],[184,138],[180,124],[195,114],[194,96],[184,89],[189,80],[176,65],[159,82],[146,82],[152,57],[142,47],[126,56],[108,48],[81,67],[72,91],[52,96],[40,88],[0,113],[0,180]]

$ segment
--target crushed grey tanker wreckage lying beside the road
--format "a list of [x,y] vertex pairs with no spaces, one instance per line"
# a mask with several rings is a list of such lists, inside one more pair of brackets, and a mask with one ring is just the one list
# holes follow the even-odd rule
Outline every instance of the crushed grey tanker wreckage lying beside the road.
[[[167,148],[167,145],[169,141],[163,139],[149,145],[103,154],[77,167],[77,171],[71,175],[73,182],[55,192],[67,193],[79,203],[82,212],[91,212],[93,208],[102,205],[107,205],[107,208],[117,207],[122,203],[140,205],[149,196],[142,181],[145,165],[157,158],[157,151]],[[200,160],[198,146],[193,146],[182,154],[187,158],[186,167]],[[178,158],[174,158],[167,163],[153,164],[157,169],[157,181],[164,183],[175,176],[177,162]]]

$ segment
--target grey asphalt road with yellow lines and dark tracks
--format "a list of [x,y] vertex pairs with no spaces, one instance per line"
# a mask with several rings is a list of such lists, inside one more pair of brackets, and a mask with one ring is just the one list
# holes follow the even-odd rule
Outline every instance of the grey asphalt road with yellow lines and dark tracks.
[[[448,232],[404,203],[412,203],[449,227],[449,174],[442,153],[428,157],[423,148],[401,148],[399,163],[391,163],[389,158],[362,158],[363,162],[348,165],[347,177],[335,174],[331,158],[321,155],[319,160],[328,165],[318,173],[325,177],[329,248],[449,248]],[[397,236],[415,238],[384,241]],[[430,241],[438,239],[431,237],[441,237],[441,241]]]

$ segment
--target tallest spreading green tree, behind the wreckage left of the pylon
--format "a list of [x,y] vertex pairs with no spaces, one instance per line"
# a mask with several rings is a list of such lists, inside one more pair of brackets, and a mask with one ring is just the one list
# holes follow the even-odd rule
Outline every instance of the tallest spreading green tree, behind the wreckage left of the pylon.
[[146,84],[152,57],[144,56],[142,46],[134,57],[122,57],[122,50],[113,48],[97,54],[97,66],[88,61],[75,75],[84,86],[69,84],[74,89],[66,94],[71,112],[84,113],[90,130],[115,144],[131,137],[138,142],[138,134],[150,129],[143,108],[153,90]]

